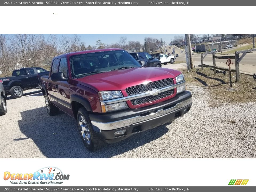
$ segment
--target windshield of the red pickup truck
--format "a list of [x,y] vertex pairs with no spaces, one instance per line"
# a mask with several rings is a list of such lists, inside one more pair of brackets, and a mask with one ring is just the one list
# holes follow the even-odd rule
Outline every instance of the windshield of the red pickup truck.
[[124,50],[75,55],[71,57],[70,62],[74,78],[119,69],[141,67],[138,61]]

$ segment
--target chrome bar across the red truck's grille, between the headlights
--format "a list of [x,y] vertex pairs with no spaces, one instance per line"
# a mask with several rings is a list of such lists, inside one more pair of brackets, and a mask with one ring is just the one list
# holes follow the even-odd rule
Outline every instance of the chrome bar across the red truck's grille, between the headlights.
[[[176,87],[185,85],[186,81],[180,82],[180,83],[176,83],[174,85],[170,85],[168,87],[163,87],[161,89],[157,89],[157,93],[162,93],[165,91],[169,91],[171,89],[174,89]],[[129,101],[132,99],[138,99],[138,98],[142,98],[142,97],[147,97],[147,96],[151,96],[151,95],[156,95],[155,91],[147,91],[145,93],[140,93],[140,94],[136,94],[136,95],[130,95],[127,97],[120,97],[120,98],[116,98],[116,99],[110,99],[107,101],[101,101],[101,105],[108,105],[108,104],[113,104],[113,103],[119,103],[119,102],[123,102],[123,101]]]

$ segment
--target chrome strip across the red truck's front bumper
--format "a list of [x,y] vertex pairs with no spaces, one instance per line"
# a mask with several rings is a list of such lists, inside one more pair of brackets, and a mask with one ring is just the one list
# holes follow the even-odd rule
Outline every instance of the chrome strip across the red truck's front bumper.
[[93,125],[93,129],[97,129],[97,130],[113,130],[113,129],[118,129],[118,128],[122,128],[122,127],[127,127],[130,126],[134,123],[139,123],[142,121],[146,121],[155,117],[159,117],[161,115],[167,114],[167,113],[171,113],[172,111],[175,111],[177,109],[186,107],[188,105],[190,105],[192,103],[192,99],[189,98],[185,101],[182,101],[180,103],[177,103],[175,106],[163,110],[160,109],[157,111],[157,113],[152,113],[146,116],[136,116],[136,117],[131,117],[131,118],[127,118],[127,119],[122,119],[119,121],[114,121],[114,122],[107,122],[107,123],[102,123],[102,122],[96,122],[96,121],[91,121],[92,125]]

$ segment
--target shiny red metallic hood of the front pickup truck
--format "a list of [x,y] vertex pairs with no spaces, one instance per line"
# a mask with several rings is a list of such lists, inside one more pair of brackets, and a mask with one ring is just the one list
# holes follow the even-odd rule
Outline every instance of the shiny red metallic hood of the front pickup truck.
[[180,71],[159,67],[136,67],[93,74],[80,79],[75,79],[80,85],[95,91],[125,90],[128,87],[175,78]]

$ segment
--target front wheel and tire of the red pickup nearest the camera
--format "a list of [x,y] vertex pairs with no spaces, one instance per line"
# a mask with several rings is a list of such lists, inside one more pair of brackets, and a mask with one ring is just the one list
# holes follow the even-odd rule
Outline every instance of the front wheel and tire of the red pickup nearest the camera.
[[97,151],[105,146],[106,143],[94,133],[89,113],[84,107],[81,107],[77,112],[77,123],[82,141],[89,151]]

